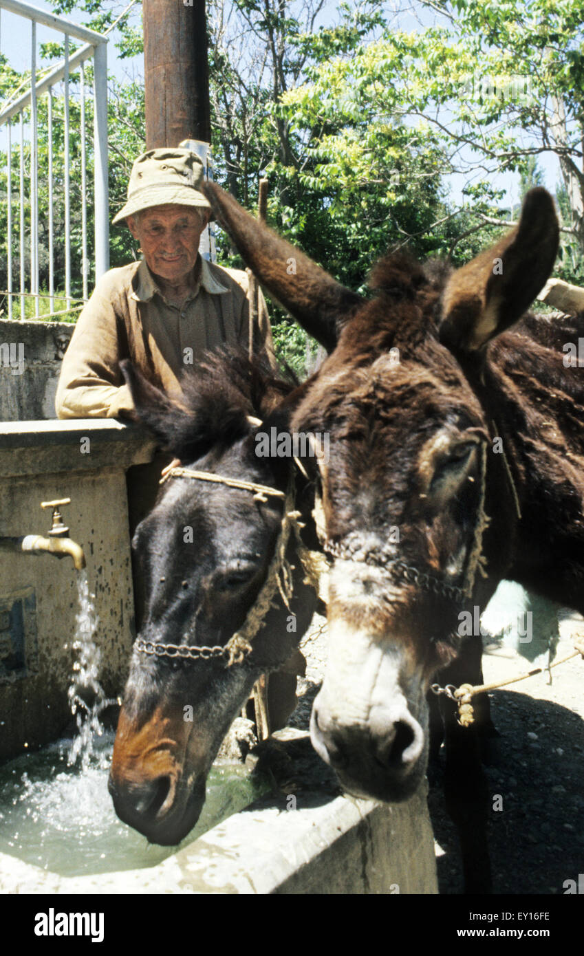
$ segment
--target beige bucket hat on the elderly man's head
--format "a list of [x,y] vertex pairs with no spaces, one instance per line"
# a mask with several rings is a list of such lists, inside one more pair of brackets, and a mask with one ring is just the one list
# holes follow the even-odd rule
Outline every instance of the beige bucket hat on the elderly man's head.
[[132,166],[128,201],[114,216],[113,224],[151,206],[202,206],[210,204],[201,192],[203,163],[190,149],[149,149]]

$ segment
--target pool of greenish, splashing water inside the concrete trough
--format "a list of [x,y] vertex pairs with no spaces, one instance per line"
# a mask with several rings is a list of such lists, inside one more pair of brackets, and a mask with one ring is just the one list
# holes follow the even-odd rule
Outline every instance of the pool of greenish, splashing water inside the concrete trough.
[[71,743],[57,741],[0,767],[0,854],[64,877],[155,866],[270,790],[263,775],[215,765],[196,827],[179,847],[158,846],[114,810],[107,792],[114,733],[105,731],[95,741],[87,770],[68,766]]

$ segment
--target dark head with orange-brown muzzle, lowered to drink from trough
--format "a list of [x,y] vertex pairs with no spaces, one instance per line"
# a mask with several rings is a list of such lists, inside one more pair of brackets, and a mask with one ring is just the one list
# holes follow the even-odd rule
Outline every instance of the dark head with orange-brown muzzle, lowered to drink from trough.
[[133,541],[146,604],[109,789],[120,819],[171,845],[197,822],[252,684],[289,661],[311,622],[318,602],[288,515],[301,512],[302,541],[315,547],[314,492],[292,458],[256,454],[259,432],[287,431],[298,395],[260,359],[207,355],[185,375],[181,403],[129,362],[122,370],[141,422],[185,467]]

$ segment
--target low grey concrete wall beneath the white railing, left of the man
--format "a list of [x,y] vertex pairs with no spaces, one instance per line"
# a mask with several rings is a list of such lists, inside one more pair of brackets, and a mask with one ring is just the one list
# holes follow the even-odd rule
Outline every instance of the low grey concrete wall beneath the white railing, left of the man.
[[[0,420],[54,418],[61,359],[75,325],[0,319]],[[8,346],[2,348],[2,346]],[[8,357],[8,358],[7,358]],[[7,361],[13,357],[13,367]],[[22,362],[18,363],[18,358]]]

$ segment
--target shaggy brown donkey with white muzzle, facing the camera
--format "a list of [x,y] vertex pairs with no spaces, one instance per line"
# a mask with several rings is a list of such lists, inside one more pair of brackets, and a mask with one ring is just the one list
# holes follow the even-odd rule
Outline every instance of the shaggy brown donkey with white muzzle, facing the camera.
[[[480,683],[462,613],[504,576],[584,612],[582,373],[535,319],[520,322],[552,271],[552,198],[532,189],[518,227],[457,272],[389,254],[366,300],[216,185],[205,193],[261,282],[332,352],[292,420],[330,433],[317,476],[330,657],[312,737],[348,791],[399,800],[426,768],[434,675],[449,665],[453,683]],[[486,890],[476,733],[450,719],[448,734],[466,888]]]

